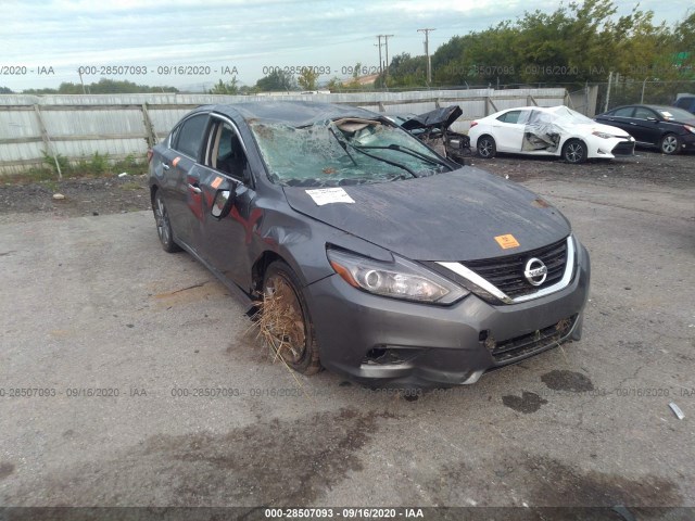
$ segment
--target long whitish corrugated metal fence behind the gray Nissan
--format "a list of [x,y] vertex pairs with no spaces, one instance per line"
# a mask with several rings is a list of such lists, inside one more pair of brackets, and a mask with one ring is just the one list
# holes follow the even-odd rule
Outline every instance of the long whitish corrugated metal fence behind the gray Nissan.
[[[565,89],[475,89],[414,92],[282,94],[287,100],[344,103],[389,114],[420,114],[458,104],[454,126],[503,109],[568,104]],[[143,156],[188,111],[208,103],[241,103],[267,97],[213,94],[0,94],[0,175],[40,165],[45,157],[79,161]]]

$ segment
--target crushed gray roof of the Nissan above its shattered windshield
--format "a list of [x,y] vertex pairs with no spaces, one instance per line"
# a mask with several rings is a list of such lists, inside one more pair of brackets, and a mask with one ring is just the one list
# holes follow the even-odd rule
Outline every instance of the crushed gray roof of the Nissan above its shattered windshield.
[[361,117],[374,119],[375,113],[350,105],[337,105],[316,101],[253,101],[248,103],[205,105],[198,111],[214,111],[230,117],[241,117],[248,123],[262,120],[303,127],[326,119]]

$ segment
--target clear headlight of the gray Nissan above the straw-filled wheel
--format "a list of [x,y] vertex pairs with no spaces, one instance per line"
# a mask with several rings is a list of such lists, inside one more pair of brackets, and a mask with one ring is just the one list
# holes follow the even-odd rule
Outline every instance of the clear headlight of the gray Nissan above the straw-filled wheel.
[[342,279],[354,288],[405,301],[452,304],[470,292],[403,257],[382,263],[341,250],[326,250],[328,260]]

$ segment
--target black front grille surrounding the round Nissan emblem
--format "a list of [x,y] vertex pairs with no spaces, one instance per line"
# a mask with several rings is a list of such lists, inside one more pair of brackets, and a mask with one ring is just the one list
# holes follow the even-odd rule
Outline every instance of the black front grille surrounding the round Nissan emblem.
[[[531,284],[523,276],[526,263],[533,257],[543,260],[547,267],[547,277],[541,285]],[[522,254],[462,264],[497,287],[507,296],[515,298],[535,293],[540,289],[560,281],[567,264],[567,240],[563,239],[549,246],[539,247]]]

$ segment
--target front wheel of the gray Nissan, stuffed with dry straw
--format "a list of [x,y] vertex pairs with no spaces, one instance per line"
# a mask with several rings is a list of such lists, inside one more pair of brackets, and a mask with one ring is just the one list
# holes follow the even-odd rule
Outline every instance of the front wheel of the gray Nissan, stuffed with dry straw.
[[[274,356],[281,357],[296,372],[308,376],[318,372],[321,365],[314,323],[300,288],[299,278],[286,263],[270,264],[263,279],[261,327],[266,329],[264,338],[271,344]],[[276,295],[280,298],[273,302]],[[280,321],[282,330],[273,331],[273,325]]]

